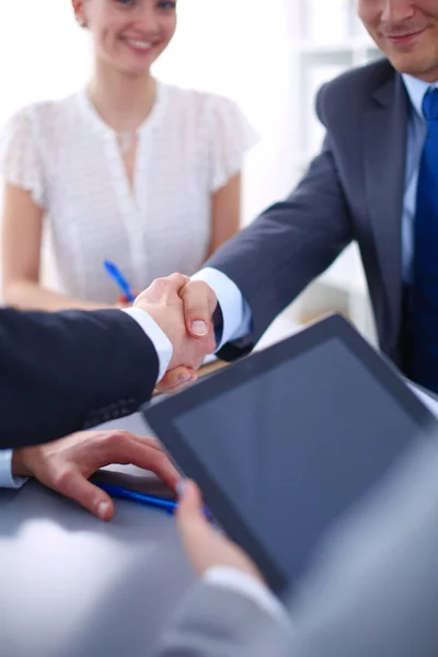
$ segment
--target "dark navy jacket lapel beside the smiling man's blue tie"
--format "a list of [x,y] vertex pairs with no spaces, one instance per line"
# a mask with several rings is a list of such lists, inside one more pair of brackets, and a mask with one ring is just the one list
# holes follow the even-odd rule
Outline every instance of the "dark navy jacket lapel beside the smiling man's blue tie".
[[402,212],[405,182],[408,99],[392,73],[365,113],[365,178],[378,261],[388,296],[390,328],[399,337],[402,308]]

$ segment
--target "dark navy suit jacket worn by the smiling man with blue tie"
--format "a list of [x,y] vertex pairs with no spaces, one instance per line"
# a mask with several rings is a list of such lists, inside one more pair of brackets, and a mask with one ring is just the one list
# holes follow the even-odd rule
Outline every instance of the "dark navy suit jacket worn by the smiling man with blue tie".
[[401,365],[403,208],[408,96],[387,60],[348,71],[319,93],[326,139],[298,188],[222,246],[206,266],[250,303],[247,351],[273,319],[357,240],[382,350]]

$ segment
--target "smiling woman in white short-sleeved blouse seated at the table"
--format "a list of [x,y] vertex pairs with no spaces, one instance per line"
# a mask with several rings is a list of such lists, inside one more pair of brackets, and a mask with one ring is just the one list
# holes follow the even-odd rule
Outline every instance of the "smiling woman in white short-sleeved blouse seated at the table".
[[[2,141],[3,292],[19,308],[115,306],[104,260],[141,290],[198,269],[240,222],[251,127],[229,100],[150,74],[173,37],[176,3],[72,4],[93,38],[92,80],[20,111]],[[41,285],[44,221],[59,292]]]

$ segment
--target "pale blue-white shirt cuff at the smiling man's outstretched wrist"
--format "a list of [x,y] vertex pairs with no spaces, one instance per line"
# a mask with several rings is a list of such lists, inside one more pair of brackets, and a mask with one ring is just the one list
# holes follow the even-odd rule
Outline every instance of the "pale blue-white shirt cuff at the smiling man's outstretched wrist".
[[220,306],[223,327],[218,350],[224,344],[240,339],[251,333],[251,309],[231,278],[219,272],[219,269],[206,267],[192,276],[191,280],[203,280],[209,285]]

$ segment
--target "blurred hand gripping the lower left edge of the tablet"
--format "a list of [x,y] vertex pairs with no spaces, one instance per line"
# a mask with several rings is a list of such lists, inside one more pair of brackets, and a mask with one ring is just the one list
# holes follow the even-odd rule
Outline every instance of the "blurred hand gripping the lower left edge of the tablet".
[[265,584],[250,557],[207,521],[198,487],[184,482],[176,522],[188,560],[199,576],[214,566],[231,566]]

